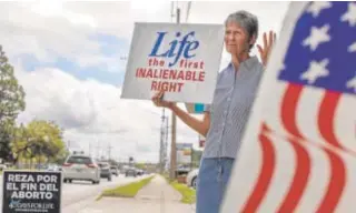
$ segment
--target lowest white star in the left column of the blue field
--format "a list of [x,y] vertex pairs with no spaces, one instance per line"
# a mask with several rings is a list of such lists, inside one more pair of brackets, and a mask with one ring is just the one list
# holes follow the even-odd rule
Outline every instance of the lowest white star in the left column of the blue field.
[[300,79],[307,80],[308,83],[314,83],[320,77],[327,77],[329,71],[325,68],[329,63],[328,59],[324,59],[320,62],[312,61],[309,64],[309,69],[305,71]]

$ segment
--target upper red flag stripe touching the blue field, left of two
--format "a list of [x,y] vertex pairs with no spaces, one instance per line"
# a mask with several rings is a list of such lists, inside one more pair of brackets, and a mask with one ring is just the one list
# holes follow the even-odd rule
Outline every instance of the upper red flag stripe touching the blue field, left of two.
[[297,126],[297,105],[303,87],[289,83],[281,101],[280,116],[285,129],[298,139],[304,139]]

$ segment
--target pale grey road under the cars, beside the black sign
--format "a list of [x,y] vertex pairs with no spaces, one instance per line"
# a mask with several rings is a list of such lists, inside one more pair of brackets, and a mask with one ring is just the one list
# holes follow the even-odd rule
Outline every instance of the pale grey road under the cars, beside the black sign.
[[[107,181],[106,179],[101,179],[100,184],[91,184],[91,182],[85,182],[85,181],[73,181],[72,183],[62,183],[62,205],[61,205],[62,210],[71,209],[72,206],[76,206],[76,209],[80,209],[80,206],[78,206],[80,203],[82,203],[88,199],[93,199],[106,189],[111,189],[117,185],[135,182],[146,176],[147,175],[144,175],[140,178],[125,178],[123,175],[119,175],[119,176],[113,176],[111,182]],[[0,175],[0,183],[1,183],[0,190],[2,194],[2,175]],[[0,207],[2,207],[2,200],[0,202]]]

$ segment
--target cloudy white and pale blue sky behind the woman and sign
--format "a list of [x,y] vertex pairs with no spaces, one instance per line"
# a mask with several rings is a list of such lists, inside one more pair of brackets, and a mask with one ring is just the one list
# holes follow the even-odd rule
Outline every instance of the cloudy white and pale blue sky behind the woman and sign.
[[[288,9],[284,1],[194,1],[187,17],[188,2],[177,4],[189,23],[224,23],[248,10],[259,19],[258,43],[267,30],[278,37]],[[158,162],[161,109],[120,92],[135,22],[175,21],[170,12],[162,0],[0,2],[0,44],[27,94],[18,122],[53,120],[72,150],[107,154],[110,144],[117,160]],[[228,62],[224,50],[221,67]],[[197,148],[198,134],[178,120],[177,142]]]

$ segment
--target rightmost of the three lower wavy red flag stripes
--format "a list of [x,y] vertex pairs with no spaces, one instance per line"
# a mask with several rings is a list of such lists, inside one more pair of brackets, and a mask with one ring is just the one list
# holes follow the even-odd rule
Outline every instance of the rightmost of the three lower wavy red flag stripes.
[[316,213],[335,212],[346,183],[346,170],[343,159],[328,149],[324,150],[329,158],[332,176],[329,178],[327,192]]

